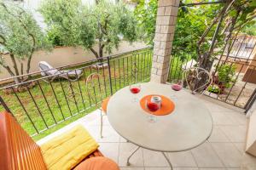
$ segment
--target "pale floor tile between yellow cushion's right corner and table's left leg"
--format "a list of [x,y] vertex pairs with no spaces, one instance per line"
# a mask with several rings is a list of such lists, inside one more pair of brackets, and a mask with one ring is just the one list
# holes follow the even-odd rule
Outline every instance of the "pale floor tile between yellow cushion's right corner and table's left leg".
[[119,143],[99,143],[102,154],[115,162],[118,162]]

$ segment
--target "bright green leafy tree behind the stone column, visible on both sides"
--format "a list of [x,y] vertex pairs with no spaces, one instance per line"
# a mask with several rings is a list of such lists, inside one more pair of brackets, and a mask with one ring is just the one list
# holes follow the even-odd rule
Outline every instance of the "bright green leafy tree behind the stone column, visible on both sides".
[[[219,5],[179,8],[172,53],[184,57],[185,52],[196,58],[196,42],[218,12]],[[149,44],[153,44],[154,40],[156,13],[157,0],[149,0],[148,3],[140,0],[135,9],[138,23],[143,30],[143,39]]]

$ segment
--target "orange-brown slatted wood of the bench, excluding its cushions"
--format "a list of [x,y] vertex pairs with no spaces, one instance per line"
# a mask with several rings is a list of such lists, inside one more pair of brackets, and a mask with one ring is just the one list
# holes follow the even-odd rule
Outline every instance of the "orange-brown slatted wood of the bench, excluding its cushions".
[[[7,112],[0,113],[0,156],[0,167],[4,170],[47,169],[38,144]],[[103,155],[99,150],[95,150],[84,160],[94,156]]]

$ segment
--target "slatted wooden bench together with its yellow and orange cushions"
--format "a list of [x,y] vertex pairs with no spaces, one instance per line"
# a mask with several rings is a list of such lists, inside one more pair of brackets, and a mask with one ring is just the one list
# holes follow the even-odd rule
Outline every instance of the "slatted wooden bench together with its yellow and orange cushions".
[[8,112],[0,113],[0,167],[4,170],[119,170],[97,150],[98,144],[82,126],[40,146]]

